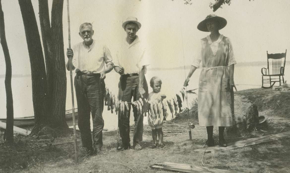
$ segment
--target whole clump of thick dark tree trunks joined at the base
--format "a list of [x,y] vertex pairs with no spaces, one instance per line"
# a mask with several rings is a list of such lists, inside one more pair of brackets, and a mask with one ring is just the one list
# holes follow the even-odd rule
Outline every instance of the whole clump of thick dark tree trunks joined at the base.
[[39,20],[44,46],[41,48],[39,31],[31,0],[18,0],[23,18],[32,77],[32,100],[36,134],[43,126],[68,128],[65,121],[66,69],[62,31],[63,0],[52,2],[50,26],[48,1],[39,0]]

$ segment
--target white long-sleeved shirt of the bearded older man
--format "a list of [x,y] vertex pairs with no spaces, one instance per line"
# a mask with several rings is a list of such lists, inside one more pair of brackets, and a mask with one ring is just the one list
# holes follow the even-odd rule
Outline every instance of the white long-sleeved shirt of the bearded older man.
[[76,72],[100,73],[105,70],[105,64],[109,65],[113,61],[108,47],[96,43],[95,40],[90,46],[86,46],[84,42],[74,45],[73,54],[73,66]]

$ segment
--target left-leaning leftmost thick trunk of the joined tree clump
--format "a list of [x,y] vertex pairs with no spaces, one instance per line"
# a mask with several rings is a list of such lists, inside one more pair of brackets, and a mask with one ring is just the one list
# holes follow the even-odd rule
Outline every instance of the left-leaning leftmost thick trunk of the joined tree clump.
[[42,126],[49,125],[50,109],[47,107],[47,79],[44,57],[37,22],[31,0],[18,0],[24,30],[26,35],[28,54],[31,67],[32,101],[35,117],[35,127],[32,134],[36,134]]

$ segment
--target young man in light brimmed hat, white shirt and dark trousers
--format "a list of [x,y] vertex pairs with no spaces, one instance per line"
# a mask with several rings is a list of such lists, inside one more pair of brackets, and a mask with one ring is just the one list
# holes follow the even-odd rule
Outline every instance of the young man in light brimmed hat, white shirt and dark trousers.
[[[131,100],[139,99],[140,97],[148,98],[148,85],[144,74],[146,66],[149,65],[145,55],[145,47],[141,44],[136,32],[140,29],[141,23],[135,17],[128,17],[122,24],[123,29],[127,33],[126,39],[122,41],[122,49],[117,54],[117,60],[114,62],[114,69],[121,75],[119,81],[118,99],[129,102],[131,109]],[[133,147],[135,150],[140,150],[139,144],[142,141],[143,135],[143,115],[137,113],[133,108],[134,113],[134,136]],[[119,129],[122,137],[122,145],[118,150],[127,150],[130,145],[130,111],[127,115],[119,115]]]

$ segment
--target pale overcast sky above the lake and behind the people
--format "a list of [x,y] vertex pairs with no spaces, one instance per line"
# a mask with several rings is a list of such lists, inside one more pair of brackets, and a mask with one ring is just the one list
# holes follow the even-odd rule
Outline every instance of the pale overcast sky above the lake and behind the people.
[[[284,52],[290,48],[289,0],[233,0],[231,5],[213,12],[209,3],[214,0],[70,0],[71,44],[81,42],[79,25],[93,23],[93,38],[109,47],[113,58],[126,33],[122,21],[136,16],[142,27],[137,35],[147,43],[151,67],[178,67],[188,65],[208,32],[197,30],[197,24],[208,14],[224,17],[228,24],[220,30],[231,39],[238,62],[265,61],[269,53]],[[37,22],[38,1],[32,0]],[[51,8],[52,1],[49,1]],[[12,62],[12,74],[30,74],[25,32],[17,0],[2,0],[6,39]],[[51,10],[51,9],[50,9]],[[63,11],[64,47],[68,47],[66,1]],[[39,26],[40,31],[40,26]],[[183,46],[182,46],[183,41]],[[182,49],[184,49],[184,54]],[[183,60],[183,55],[185,60]],[[0,49],[0,74],[5,74],[5,60]]]

